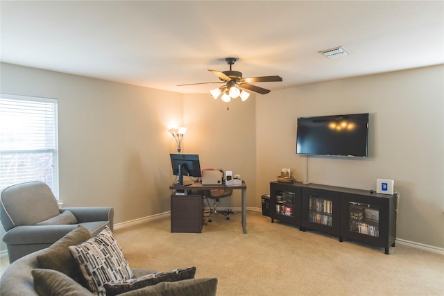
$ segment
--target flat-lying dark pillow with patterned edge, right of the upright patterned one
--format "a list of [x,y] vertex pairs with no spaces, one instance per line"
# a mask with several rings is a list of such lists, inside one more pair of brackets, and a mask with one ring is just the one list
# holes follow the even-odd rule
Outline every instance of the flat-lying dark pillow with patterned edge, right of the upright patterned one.
[[105,287],[107,296],[119,295],[132,290],[137,290],[146,286],[153,286],[162,281],[182,281],[183,279],[194,279],[196,275],[196,267],[180,268],[167,272],[157,272],[151,275],[144,275],[137,279],[128,279],[121,283],[106,283]]

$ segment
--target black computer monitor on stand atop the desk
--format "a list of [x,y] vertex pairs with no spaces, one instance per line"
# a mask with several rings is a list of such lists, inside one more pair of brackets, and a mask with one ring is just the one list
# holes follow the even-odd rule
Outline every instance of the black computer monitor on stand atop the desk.
[[[177,175],[179,181],[176,185],[184,186],[183,176],[202,177],[200,173],[199,155],[197,154],[170,154],[173,175]],[[185,184],[185,186],[191,185]]]

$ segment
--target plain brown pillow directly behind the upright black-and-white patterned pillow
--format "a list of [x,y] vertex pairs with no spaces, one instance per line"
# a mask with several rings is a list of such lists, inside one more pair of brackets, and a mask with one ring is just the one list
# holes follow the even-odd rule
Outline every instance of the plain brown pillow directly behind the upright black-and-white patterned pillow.
[[69,245],[78,245],[92,238],[88,229],[78,226],[60,238],[56,243],[50,245],[42,254],[37,255],[37,263],[39,268],[57,270],[68,277],[71,277],[78,283],[86,286],[85,279],[78,267],[77,261],[69,252]]

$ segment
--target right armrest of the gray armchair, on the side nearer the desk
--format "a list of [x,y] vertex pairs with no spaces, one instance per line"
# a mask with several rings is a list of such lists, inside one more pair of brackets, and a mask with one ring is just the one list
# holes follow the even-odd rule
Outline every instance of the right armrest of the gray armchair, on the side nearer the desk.
[[110,221],[110,229],[114,230],[114,209],[112,207],[64,207],[63,211],[71,211],[76,216],[77,223],[93,221]]

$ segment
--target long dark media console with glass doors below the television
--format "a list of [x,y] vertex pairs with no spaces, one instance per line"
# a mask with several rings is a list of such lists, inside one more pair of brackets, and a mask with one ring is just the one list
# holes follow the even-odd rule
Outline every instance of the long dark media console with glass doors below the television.
[[271,222],[280,220],[333,236],[384,247],[395,246],[396,194],[300,182],[270,183]]

